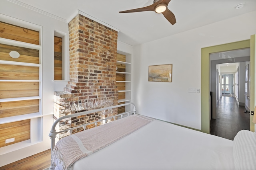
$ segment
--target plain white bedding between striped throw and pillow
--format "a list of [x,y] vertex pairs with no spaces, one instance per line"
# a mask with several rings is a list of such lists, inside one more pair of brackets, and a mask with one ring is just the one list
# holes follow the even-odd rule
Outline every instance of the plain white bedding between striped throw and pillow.
[[234,170],[233,141],[154,120],[71,168],[87,169]]

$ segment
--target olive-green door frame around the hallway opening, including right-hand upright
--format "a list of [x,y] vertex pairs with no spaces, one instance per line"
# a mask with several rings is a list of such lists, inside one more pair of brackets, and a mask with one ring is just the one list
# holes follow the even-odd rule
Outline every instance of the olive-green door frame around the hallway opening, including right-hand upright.
[[[251,65],[251,77],[250,77],[250,87],[251,87],[251,108],[254,110],[254,57],[255,57],[255,35],[251,36],[251,39],[238,41],[234,43],[216,45],[212,47],[202,48],[202,64],[201,64],[201,76],[202,76],[202,100],[201,100],[201,109],[202,109],[202,132],[210,133],[210,59],[209,55],[211,53],[218,53],[223,51],[232,51],[236,49],[246,49],[251,47],[250,52],[250,61],[253,63]],[[254,124],[252,123],[253,115],[250,115],[250,130],[254,131]]]

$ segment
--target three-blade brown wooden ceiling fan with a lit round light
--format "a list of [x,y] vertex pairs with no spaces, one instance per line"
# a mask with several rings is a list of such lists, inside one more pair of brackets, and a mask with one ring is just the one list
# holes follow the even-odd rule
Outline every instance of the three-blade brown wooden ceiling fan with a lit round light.
[[156,13],[162,13],[166,20],[168,20],[172,25],[176,23],[174,14],[167,8],[171,0],[154,0],[153,4],[150,6],[136,8],[133,10],[120,11],[119,13],[128,12],[143,12],[143,11],[154,11]]

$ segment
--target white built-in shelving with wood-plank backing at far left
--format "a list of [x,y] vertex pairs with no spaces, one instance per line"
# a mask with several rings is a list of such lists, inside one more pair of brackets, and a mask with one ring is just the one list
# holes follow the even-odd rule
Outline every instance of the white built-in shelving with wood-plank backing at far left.
[[18,20],[16,18],[11,18],[9,16],[4,16],[1,14],[0,14],[0,21],[9,23],[12,25],[17,25],[19,27],[25,27],[25,28],[32,29],[35,31],[39,31],[39,39],[40,39],[40,41],[39,41],[40,45],[35,45],[35,44],[31,44],[31,43],[25,43],[25,42],[21,42],[21,41],[0,38],[1,44],[12,45],[12,46],[17,46],[17,47],[24,47],[24,48],[28,48],[28,49],[36,49],[39,51],[39,64],[0,60],[0,64],[32,66],[32,67],[38,67],[38,69],[39,69],[38,80],[0,80],[0,82],[39,82],[39,95],[38,96],[0,99],[0,103],[18,102],[18,101],[22,101],[22,100],[39,100],[39,112],[37,112],[37,113],[29,113],[29,114],[24,114],[24,115],[16,115],[16,116],[0,118],[0,125],[5,124],[5,123],[12,123],[12,122],[16,122],[16,121],[30,119],[30,139],[26,140],[26,141],[14,143],[12,145],[7,145],[4,147],[1,147],[0,155],[2,155],[2,154],[13,152],[15,150],[19,150],[19,149],[29,147],[31,145],[35,145],[37,143],[42,142],[42,117],[44,117],[46,115],[42,114],[42,46],[41,46],[41,44],[42,44],[42,26],[28,23],[26,21]]

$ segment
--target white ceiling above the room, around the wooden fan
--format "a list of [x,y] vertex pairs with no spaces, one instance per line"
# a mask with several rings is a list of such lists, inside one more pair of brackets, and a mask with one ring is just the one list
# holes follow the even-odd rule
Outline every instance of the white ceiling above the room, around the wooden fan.
[[[256,10],[256,0],[171,0],[168,8],[176,16],[171,25],[152,11],[118,13],[153,4],[153,0],[9,0],[34,7],[70,21],[78,10],[119,29],[118,40],[138,45],[183,31],[202,27]],[[243,8],[234,9],[240,3]],[[238,21],[239,24],[239,21]]]

